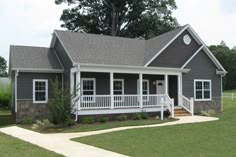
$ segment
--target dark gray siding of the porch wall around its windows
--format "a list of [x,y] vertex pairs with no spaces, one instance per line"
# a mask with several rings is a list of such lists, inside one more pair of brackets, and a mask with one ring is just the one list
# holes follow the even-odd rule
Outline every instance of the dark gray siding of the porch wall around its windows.
[[[82,72],[81,78],[95,78],[96,79],[96,94],[109,95],[110,94],[110,74],[109,73],[93,73]],[[114,74],[114,79],[124,79],[124,94],[137,94],[137,80],[138,74]],[[156,94],[156,80],[164,80],[161,75],[143,75],[143,79],[149,80],[150,94]]]

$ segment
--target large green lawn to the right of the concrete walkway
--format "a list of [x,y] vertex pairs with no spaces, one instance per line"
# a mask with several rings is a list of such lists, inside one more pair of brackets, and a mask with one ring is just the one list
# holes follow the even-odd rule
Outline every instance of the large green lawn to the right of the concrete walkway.
[[234,157],[236,102],[224,101],[219,121],[131,129],[76,141],[133,157]]

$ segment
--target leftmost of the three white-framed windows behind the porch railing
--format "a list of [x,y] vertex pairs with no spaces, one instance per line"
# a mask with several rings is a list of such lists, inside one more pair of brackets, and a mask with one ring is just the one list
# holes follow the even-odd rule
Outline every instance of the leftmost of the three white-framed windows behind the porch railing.
[[95,102],[95,78],[82,78],[82,101]]

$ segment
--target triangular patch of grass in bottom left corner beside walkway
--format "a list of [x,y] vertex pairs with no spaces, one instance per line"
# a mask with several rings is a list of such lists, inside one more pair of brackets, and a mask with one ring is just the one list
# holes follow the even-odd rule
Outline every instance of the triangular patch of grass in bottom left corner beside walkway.
[[60,157],[61,155],[0,133],[1,157]]

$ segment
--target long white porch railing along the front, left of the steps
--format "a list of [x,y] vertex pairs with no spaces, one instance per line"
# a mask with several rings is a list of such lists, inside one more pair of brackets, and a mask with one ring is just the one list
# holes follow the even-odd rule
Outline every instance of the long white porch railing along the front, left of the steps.
[[161,107],[163,104],[174,115],[174,101],[166,94],[143,95],[141,107],[140,95],[83,95],[80,98],[80,110],[89,109],[120,109]]

